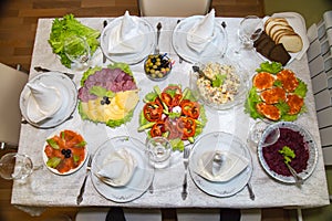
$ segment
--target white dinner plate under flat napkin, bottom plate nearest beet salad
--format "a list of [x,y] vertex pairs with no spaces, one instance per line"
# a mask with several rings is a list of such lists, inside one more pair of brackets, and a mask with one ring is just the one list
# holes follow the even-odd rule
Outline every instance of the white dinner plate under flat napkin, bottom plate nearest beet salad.
[[[226,182],[209,181],[195,172],[196,164],[207,151],[229,151],[248,159],[245,170]],[[189,158],[189,171],[196,186],[204,192],[215,197],[230,197],[239,192],[248,183],[252,173],[251,155],[247,146],[235,135],[214,131],[200,137],[193,147]]]

